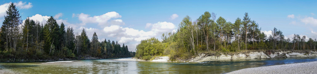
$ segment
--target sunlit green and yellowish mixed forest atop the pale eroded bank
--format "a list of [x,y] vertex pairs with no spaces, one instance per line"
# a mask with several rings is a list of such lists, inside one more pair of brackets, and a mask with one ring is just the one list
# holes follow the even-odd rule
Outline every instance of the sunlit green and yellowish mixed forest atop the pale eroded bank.
[[199,53],[238,52],[242,50],[315,50],[316,39],[294,34],[285,39],[283,32],[274,28],[267,36],[248,13],[234,23],[225,18],[216,19],[215,13],[204,12],[197,20],[183,18],[176,32],[165,33],[162,40],[142,40],[136,47],[135,57],[145,60],[153,56],[188,59]]

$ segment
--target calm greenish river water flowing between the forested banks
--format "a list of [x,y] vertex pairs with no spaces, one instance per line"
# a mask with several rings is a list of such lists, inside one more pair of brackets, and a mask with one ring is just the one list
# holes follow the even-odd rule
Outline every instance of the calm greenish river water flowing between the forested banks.
[[111,59],[68,63],[0,63],[0,70],[22,74],[220,74],[244,68],[317,61],[317,57],[210,61],[201,63],[137,62]]

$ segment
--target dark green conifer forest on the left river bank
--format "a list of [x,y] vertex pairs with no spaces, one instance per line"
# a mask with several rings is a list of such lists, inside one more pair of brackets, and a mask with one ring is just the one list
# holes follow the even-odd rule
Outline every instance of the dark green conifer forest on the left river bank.
[[[101,41],[101,40],[100,40]],[[57,24],[51,16],[43,24],[26,18],[21,20],[19,11],[11,3],[0,29],[0,59],[60,59],[60,58],[118,58],[133,57],[127,45],[116,41],[100,42],[96,33],[90,40],[85,29],[74,32],[63,23]]]

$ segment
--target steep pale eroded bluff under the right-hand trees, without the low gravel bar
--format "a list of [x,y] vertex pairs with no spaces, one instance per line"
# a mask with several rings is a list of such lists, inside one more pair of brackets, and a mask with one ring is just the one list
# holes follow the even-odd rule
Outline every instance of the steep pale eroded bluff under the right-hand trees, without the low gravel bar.
[[228,55],[220,53],[220,56],[210,54],[198,54],[197,57],[191,58],[186,62],[205,62],[205,61],[219,61],[219,60],[243,60],[243,59],[263,59],[263,58],[286,58],[286,57],[312,57],[317,56],[316,51],[310,51],[308,53],[299,53],[292,51],[278,51],[278,52],[248,52],[248,53],[236,53]]

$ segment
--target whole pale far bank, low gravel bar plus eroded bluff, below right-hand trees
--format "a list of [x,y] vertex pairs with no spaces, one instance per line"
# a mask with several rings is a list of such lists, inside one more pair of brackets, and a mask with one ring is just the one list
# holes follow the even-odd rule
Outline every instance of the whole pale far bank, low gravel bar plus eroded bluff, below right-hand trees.
[[[170,57],[159,56],[154,57],[152,62],[206,62],[206,61],[222,61],[222,60],[247,60],[247,59],[269,59],[269,58],[287,58],[287,57],[315,57],[316,50],[245,50],[240,52],[214,52],[200,53],[192,56],[190,59],[177,59],[171,61]],[[113,59],[117,61],[146,61],[137,58]]]

